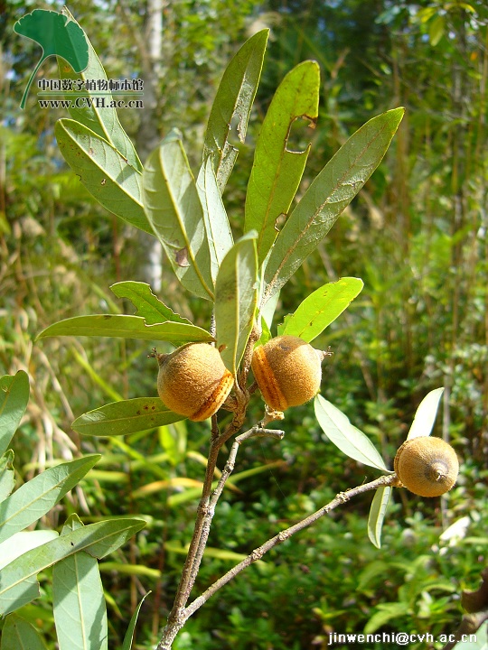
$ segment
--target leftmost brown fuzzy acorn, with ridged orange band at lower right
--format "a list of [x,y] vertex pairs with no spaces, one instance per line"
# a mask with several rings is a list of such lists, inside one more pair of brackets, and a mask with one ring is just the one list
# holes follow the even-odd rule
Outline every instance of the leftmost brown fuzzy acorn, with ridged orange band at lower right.
[[189,343],[171,354],[155,353],[155,357],[161,401],[194,422],[216,413],[234,385],[219,350],[209,343]]

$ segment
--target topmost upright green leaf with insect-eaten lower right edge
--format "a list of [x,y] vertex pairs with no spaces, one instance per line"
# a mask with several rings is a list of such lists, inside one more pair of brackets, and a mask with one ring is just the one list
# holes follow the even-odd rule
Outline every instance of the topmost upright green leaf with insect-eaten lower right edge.
[[203,140],[203,162],[211,157],[221,192],[238,155],[238,150],[229,142],[232,122],[234,118],[238,120],[237,135],[243,143],[258,89],[268,35],[269,30],[254,34],[230,60],[211,107]]

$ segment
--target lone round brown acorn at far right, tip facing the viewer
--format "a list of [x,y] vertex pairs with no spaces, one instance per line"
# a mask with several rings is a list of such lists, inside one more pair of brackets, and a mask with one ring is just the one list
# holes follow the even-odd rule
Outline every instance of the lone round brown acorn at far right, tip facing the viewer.
[[441,438],[418,436],[405,441],[395,456],[394,469],[404,487],[419,497],[439,497],[455,484],[459,461]]

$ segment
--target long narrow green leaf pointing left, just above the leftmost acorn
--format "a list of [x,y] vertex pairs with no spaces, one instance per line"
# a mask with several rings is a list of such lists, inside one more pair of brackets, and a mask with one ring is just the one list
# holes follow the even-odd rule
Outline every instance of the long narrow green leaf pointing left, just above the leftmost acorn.
[[96,314],[74,316],[53,323],[38,334],[38,339],[51,336],[101,336],[119,339],[165,340],[174,342],[210,341],[209,332],[196,325],[167,321],[159,325],[146,325],[139,316]]

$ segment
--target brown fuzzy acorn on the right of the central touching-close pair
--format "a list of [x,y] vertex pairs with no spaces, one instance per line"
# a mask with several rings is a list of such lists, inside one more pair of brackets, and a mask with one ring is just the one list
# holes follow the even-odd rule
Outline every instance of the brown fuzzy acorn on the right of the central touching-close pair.
[[251,367],[266,404],[285,411],[311,400],[320,390],[322,361],[329,354],[287,335],[256,348]]

